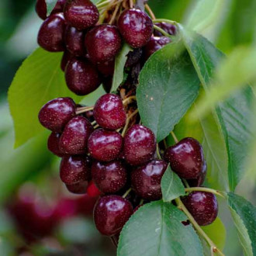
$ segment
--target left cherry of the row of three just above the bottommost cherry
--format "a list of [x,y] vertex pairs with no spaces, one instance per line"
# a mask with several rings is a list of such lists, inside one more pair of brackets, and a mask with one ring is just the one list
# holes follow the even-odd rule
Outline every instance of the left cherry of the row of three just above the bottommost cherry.
[[66,185],[87,181],[91,177],[90,159],[85,155],[62,157],[60,176]]

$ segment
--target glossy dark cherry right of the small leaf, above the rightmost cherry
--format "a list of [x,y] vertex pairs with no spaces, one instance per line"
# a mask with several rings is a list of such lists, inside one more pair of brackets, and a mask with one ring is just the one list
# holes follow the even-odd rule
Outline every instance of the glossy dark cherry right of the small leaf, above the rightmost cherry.
[[181,178],[197,178],[205,168],[202,146],[193,138],[185,138],[168,147],[164,152],[164,160],[168,161],[171,170]]

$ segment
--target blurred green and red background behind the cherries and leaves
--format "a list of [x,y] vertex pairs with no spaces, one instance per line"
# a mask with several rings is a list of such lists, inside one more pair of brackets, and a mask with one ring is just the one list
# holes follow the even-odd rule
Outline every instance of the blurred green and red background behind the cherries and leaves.
[[[14,131],[7,93],[19,65],[36,49],[42,21],[35,0],[0,1],[0,255],[115,255],[111,241],[92,223],[95,199],[65,192],[58,161],[47,152],[47,134],[13,149]],[[185,22],[192,0],[150,0],[157,18]],[[223,0],[224,8],[204,35],[225,54],[254,45],[256,1]],[[27,74],[29,76],[29,74]],[[237,193],[255,203],[255,178],[248,172]],[[84,206],[84,207],[83,207]],[[227,208],[220,207],[227,229],[227,255],[242,251]]]

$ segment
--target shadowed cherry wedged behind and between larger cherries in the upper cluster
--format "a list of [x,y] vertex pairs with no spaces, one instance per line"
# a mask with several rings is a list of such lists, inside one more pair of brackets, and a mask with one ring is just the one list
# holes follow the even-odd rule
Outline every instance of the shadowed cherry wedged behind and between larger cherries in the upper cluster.
[[74,56],[85,57],[86,50],[84,46],[85,32],[79,31],[74,26],[67,26],[65,32],[65,44],[67,50]]

